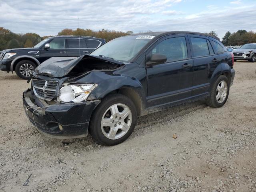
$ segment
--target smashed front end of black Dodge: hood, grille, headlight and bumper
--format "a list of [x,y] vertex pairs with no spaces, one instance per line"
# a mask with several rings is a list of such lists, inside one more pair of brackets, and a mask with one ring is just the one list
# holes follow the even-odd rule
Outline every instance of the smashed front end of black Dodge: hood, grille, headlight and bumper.
[[[36,68],[28,80],[30,88],[23,93],[28,119],[49,137],[87,136],[90,117],[100,103],[93,94],[97,72],[112,73],[122,66],[122,62],[89,55],[50,58]],[[81,81],[89,74],[95,78]]]

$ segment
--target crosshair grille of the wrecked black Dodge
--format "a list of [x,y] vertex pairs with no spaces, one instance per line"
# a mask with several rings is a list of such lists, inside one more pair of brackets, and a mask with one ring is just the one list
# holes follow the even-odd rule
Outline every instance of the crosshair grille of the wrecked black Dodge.
[[33,90],[40,99],[50,101],[56,95],[58,81],[32,80]]

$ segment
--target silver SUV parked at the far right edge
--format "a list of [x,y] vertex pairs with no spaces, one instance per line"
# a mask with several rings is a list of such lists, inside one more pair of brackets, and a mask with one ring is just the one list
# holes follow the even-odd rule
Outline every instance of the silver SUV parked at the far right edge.
[[234,61],[248,60],[250,62],[256,61],[256,43],[245,44],[239,49],[232,51],[234,54]]

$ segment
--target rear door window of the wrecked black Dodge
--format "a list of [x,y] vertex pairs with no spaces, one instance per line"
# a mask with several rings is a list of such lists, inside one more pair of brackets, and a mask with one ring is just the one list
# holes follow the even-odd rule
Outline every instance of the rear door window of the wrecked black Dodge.
[[194,57],[209,55],[209,48],[204,38],[191,37],[192,50]]

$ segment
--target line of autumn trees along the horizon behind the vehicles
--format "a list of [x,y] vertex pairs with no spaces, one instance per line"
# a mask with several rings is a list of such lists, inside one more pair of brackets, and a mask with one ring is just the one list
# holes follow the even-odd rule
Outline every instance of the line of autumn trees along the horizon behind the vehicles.
[[[152,31],[148,31],[152,32]],[[58,35],[81,35],[81,36],[93,36],[96,38],[103,38],[106,41],[112,40],[114,38],[133,34],[132,31],[122,32],[115,30],[102,29],[99,31],[94,31],[91,29],[63,29],[58,33]],[[210,31],[209,33],[213,36],[218,36],[215,31]],[[26,34],[16,34],[8,29],[0,27],[0,50],[10,49],[10,48],[27,48],[33,47],[40,41],[48,38],[50,36],[40,36],[36,33],[26,33]],[[247,32],[246,30],[238,30],[237,32],[230,33],[226,32],[225,36],[222,38],[222,43],[225,46],[236,46],[243,45],[246,43],[256,43],[256,33],[253,31]]]

